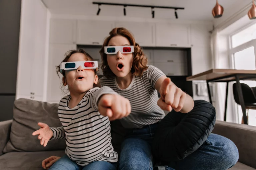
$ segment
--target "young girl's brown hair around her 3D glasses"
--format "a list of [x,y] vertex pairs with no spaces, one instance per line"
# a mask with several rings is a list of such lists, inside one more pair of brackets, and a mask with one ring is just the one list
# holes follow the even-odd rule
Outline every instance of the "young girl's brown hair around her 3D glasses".
[[[87,61],[93,61],[93,58],[87,52],[85,52],[83,49],[78,49],[78,50],[73,49],[73,50],[69,50],[65,53],[65,58],[61,62],[68,62],[68,59],[70,58],[70,56],[75,53],[82,53],[82,54],[84,54]],[[94,70],[94,73],[96,74],[97,73],[96,69],[93,69],[93,70]],[[62,74],[62,76],[64,77],[64,79],[66,81],[66,71],[65,70],[60,71],[60,65],[56,66],[56,72],[57,72],[57,74],[58,73]],[[58,76],[59,76],[59,74],[58,74]],[[93,84],[93,87],[98,87],[98,85]]]

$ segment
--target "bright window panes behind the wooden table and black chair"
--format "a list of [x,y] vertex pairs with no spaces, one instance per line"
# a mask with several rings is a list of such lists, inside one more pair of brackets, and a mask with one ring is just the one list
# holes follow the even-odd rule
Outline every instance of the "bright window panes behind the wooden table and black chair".
[[[256,24],[252,25],[231,36],[230,55],[232,56],[232,65],[234,69],[254,70],[256,48]],[[256,81],[240,81],[250,87],[256,87]],[[242,120],[242,109],[237,105],[238,120]],[[246,112],[247,113],[247,112]],[[256,111],[249,110],[248,124],[256,126]]]

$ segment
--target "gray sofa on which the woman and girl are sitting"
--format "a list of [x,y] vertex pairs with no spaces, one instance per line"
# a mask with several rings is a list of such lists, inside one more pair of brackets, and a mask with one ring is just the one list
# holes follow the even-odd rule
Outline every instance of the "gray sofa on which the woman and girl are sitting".
[[[58,104],[28,99],[14,102],[13,120],[0,122],[0,170],[42,170],[43,159],[65,154],[64,139],[50,141],[43,147],[37,136],[32,136],[32,132],[39,128],[38,122],[47,123],[50,127],[61,126],[57,107]],[[223,135],[236,144],[239,162],[232,170],[255,170],[256,127],[217,121],[213,133]]]

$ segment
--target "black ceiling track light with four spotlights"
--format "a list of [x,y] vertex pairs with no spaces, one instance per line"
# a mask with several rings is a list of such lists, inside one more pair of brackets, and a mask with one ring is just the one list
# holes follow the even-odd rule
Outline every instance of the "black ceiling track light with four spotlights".
[[[177,10],[181,9],[184,10],[185,8],[183,7],[170,7],[170,6],[152,6],[152,5],[137,5],[137,4],[119,4],[119,3],[105,3],[105,2],[92,2],[93,4],[98,4],[98,6],[100,5],[117,5],[117,6],[123,6],[124,7],[124,16],[126,16],[126,8],[127,6],[133,6],[133,7],[145,7],[145,8],[151,8],[151,14],[152,14],[152,18],[155,18],[155,11],[153,10],[154,8],[165,8],[165,9],[174,9],[175,12],[175,17],[176,19],[178,19],[178,14],[177,14]],[[99,15],[100,13],[100,7],[98,9],[97,15]]]

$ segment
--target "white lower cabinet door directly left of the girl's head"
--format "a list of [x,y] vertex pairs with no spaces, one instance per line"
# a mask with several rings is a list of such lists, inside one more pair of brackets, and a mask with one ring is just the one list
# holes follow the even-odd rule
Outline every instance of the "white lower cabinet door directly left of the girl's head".
[[[71,49],[76,49],[76,45],[50,44],[49,45],[49,64],[48,64],[48,82],[47,82],[47,102],[59,102],[68,91],[61,91],[62,75],[58,77],[56,65],[59,65],[64,59],[64,54]],[[63,88],[64,89],[64,88]]]

